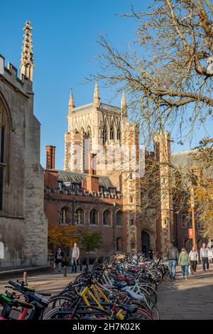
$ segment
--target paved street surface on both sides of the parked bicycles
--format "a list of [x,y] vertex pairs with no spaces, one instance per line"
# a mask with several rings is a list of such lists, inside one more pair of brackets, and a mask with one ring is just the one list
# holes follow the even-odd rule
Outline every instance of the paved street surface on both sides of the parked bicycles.
[[[76,274],[67,274],[67,277],[52,273],[29,274],[28,284],[55,295],[73,281],[75,276]],[[6,279],[0,279],[1,293],[4,293],[7,282]],[[180,271],[175,281],[165,277],[158,287],[158,309],[162,320],[213,319],[213,269],[204,274],[199,265],[195,276],[187,281],[181,278]]]

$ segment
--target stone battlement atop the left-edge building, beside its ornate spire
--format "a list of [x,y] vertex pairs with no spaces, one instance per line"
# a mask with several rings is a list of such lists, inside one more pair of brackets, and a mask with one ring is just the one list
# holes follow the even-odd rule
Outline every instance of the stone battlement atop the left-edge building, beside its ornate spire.
[[16,92],[21,92],[24,95],[32,93],[33,82],[23,74],[18,77],[18,70],[13,64],[8,63],[6,67],[5,58],[2,55],[0,55],[0,78],[8,82]]

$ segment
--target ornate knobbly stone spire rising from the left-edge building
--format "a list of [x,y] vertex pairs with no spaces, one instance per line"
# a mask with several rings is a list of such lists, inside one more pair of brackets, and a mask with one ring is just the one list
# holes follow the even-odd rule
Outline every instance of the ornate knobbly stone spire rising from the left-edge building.
[[23,35],[23,46],[22,46],[22,53],[21,53],[21,75],[26,75],[28,79],[33,81],[33,45],[32,45],[32,33],[31,30],[31,21],[26,21],[25,27],[23,28],[24,35]]

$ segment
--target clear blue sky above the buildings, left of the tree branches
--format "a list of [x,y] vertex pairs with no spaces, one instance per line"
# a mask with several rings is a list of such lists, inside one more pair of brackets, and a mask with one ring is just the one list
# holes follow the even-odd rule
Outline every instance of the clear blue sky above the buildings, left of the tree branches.
[[[136,22],[116,14],[129,12],[131,5],[147,9],[151,0],[37,0],[1,2],[0,53],[19,68],[23,26],[33,25],[35,69],[34,114],[41,123],[40,161],[45,166],[45,145],[55,145],[56,168],[63,168],[64,133],[67,131],[67,104],[72,87],[75,105],[92,102],[94,83],[84,77],[99,70],[95,56],[101,53],[99,33],[122,48],[136,36]],[[102,102],[109,102],[113,90],[100,85]],[[112,101],[119,105],[119,98]],[[199,138],[202,135],[198,136]],[[188,149],[175,146],[175,151]]]

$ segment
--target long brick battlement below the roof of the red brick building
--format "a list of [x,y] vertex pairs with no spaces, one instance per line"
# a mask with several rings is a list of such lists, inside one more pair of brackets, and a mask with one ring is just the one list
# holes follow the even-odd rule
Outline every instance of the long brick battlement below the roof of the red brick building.
[[123,195],[120,193],[108,193],[108,192],[95,192],[95,191],[88,191],[88,190],[70,190],[70,189],[65,189],[62,188],[62,190],[60,190],[60,188],[51,188],[48,186],[45,186],[44,188],[44,192],[45,193],[55,193],[55,194],[65,194],[65,195],[75,195],[75,196],[92,196],[92,197],[97,197],[97,198],[114,198],[114,199],[118,199],[121,200]]

